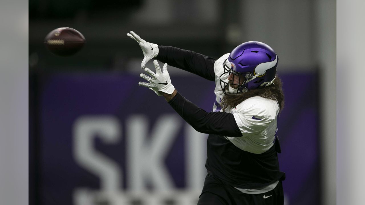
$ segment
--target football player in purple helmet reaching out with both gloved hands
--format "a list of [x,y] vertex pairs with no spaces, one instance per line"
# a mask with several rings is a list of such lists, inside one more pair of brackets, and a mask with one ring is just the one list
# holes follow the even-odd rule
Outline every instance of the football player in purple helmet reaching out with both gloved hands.
[[[278,57],[262,42],[242,43],[218,60],[170,46],[158,46],[134,32],[127,34],[143,51],[141,67],[152,58],[155,72],[145,68],[139,82],[164,96],[171,107],[207,140],[208,174],[199,196],[203,204],[284,204],[277,153],[281,152],[277,116],[284,106]],[[215,81],[213,112],[185,99],[172,85],[167,65]]]

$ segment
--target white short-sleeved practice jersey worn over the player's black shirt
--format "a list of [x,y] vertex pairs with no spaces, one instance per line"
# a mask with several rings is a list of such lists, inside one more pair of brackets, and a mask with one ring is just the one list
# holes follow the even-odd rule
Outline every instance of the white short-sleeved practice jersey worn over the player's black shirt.
[[[213,111],[222,111],[220,101],[224,94],[220,86],[219,76],[224,73],[223,62],[229,56],[224,54],[214,63],[215,73],[215,94],[216,101],[213,105]],[[225,74],[224,81],[227,80],[228,74]],[[260,96],[250,97],[238,104],[235,108],[228,108],[225,112],[232,113],[236,123],[242,133],[242,137],[225,136],[235,146],[241,150],[254,154],[261,154],[273,146],[277,115],[279,105],[277,101],[266,99]]]

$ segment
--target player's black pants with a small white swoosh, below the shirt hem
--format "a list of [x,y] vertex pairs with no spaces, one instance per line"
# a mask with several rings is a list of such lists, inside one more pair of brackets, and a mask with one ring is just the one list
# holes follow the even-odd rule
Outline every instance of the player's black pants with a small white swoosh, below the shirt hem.
[[[264,198],[265,197],[265,198]],[[212,175],[207,175],[203,191],[197,205],[283,205],[284,192],[281,181],[270,192],[245,194],[223,183]]]

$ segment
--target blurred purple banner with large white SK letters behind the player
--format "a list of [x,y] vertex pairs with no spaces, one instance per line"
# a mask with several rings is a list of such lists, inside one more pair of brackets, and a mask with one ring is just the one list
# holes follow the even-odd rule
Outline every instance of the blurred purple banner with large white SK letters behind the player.
[[[282,74],[278,118],[285,204],[318,204],[315,74]],[[42,79],[41,202],[196,204],[206,170],[205,140],[136,75],[54,74]],[[214,82],[172,76],[175,88],[206,111]]]

